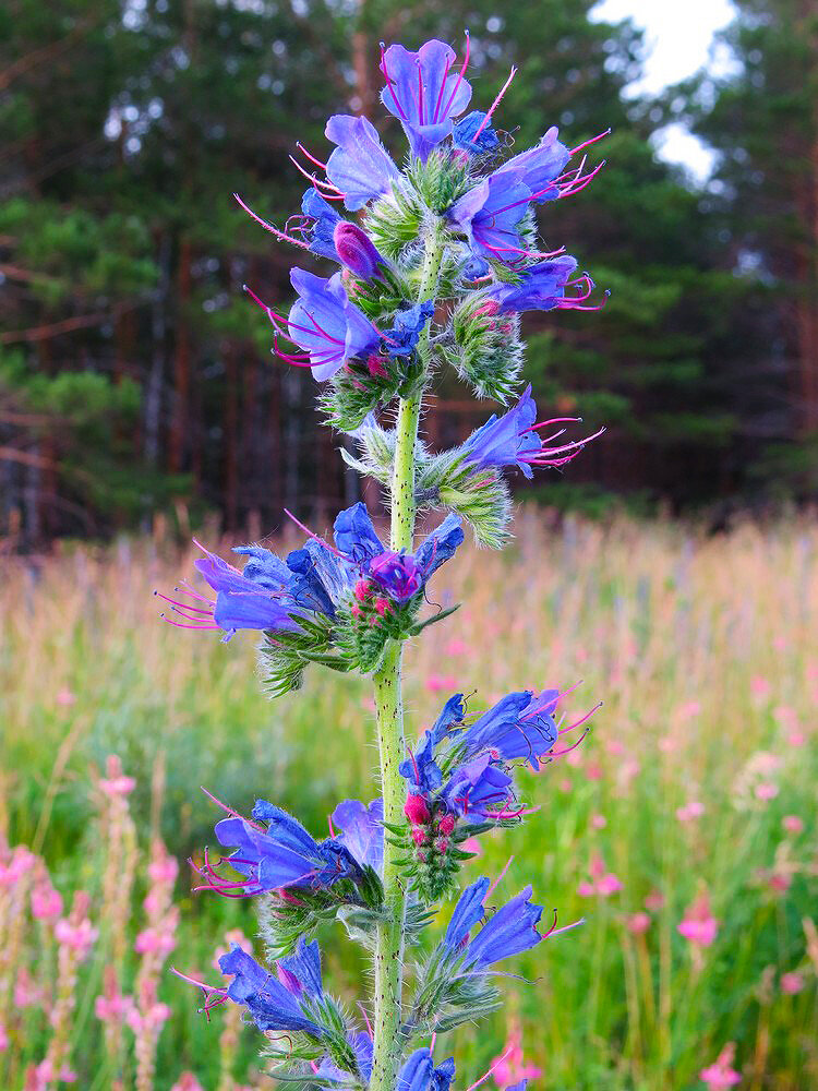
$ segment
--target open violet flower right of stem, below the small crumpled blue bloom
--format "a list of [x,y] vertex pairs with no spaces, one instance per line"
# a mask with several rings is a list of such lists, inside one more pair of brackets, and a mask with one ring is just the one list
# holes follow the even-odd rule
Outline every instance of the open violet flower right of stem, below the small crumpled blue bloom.
[[469,239],[478,256],[495,261],[519,261],[519,224],[526,215],[531,190],[522,171],[495,171],[465,193],[448,211],[452,224]]

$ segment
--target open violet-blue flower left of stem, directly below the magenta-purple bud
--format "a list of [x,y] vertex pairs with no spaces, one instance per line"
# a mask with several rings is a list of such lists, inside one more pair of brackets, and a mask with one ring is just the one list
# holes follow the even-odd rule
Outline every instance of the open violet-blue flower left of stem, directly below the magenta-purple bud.
[[346,360],[377,347],[380,337],[366,315],[350,302],[340,273],[326,279],[293,268],[290,280],[299,299],[290,309],[288,336],[304,350],[318,382],[332,379]]

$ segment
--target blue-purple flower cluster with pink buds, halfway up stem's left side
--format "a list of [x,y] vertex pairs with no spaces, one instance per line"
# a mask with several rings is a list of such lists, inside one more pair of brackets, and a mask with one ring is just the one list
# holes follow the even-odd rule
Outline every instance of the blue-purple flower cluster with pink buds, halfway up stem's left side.
[[[306,529],[306,528],[304,528]],[[309,532],[309,531],[308,531]],[[270,688],[297,688],[309,662],[339,671],[374,670],[387,640],[414,636],[433,622],[418,621],[430,577],[462,542],[459,517],[450,513],[413,553],[387,549],[362,503],[335,520],[335,546],[311,535],[281,559],[263,546],[240,546],[240,572],[199,546],[195,562],[215,599],[181,584],[166,621],[180,628],[224,633],[261,630]]]

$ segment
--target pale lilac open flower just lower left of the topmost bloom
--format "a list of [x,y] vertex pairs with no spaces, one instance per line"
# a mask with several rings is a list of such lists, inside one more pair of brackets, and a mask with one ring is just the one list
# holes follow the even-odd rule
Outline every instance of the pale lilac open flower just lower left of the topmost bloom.
[[350,212],[392,190],[400,172],[371,121],[336,113],[327,121],[325,133],[338,145],[327,159],[326,177],[344,194]]

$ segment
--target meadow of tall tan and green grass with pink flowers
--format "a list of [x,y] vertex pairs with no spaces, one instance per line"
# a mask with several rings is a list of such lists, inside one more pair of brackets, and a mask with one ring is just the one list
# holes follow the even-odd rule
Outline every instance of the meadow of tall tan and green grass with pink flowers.
[[[519,775],[539,812],[484,838],[468,867],[496,874],[514,853],[498,895],[531,882],[562,923],[587,923],[509,963],[520,978],[502,983],[504,1012],[436,1055],[452,1046],[466,1088],[519,1029],[541,1069],[532,1087],[686,1091],[735,1043],[742,1089],[818,1088],[818,527],[549,532],[524,508],[516,531],[503,556],[465,551],[436,577],[441,601],[465,606],[408,651],[409,736],[457,690],[479,707],[581,680],[569,712],[604,702],[581,746]],[[167,969],[216,981],[225,933],[254,933],[251,904],[190,892],[184,861],[213,843],[218,817],[200,786],[242,812],[270,799],[316,835],[339,800],[375,792],[364,680],[313,669],[270,703],[252,638],[222,645],[158,620],[153,588],[192,561],[149,541],[2,561],[0,831],[45,861],[1,858],[2,1088],[56,1087],[33,1082],[47,1056],[89,1091],[166,1091],[183,1070],[207,1091],[268,1086],[257,1035],[220,1011],[208,1023]],[[100,787],[109,755],[130,794]],[[178,925],[159,840],[180,864]],[[64,913],[73,891],[89,895],[93,944],[72,947],[64,928],[60,943],[45,911],[32,916],[44,867]],[[137,954],[148,926],[168,943]],[[339,932],[323,946],[330,987],[357,999],[357,951]],[[69,955],[86,950],[74,972]],[[97,1016],[112,971],[137,995],[124,1026]]]

